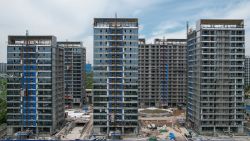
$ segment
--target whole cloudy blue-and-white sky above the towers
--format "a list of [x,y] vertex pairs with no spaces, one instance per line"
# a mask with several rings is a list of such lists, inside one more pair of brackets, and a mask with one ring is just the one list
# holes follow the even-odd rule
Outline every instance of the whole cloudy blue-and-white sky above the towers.
[[93,18],[139,18],[139,36],[185,38],[186,21],[201,18],[245,20],[250,55],[250,0],[0,0],[0,62],[6,62],[8,35],[55,35],[82,41],[93,61]]

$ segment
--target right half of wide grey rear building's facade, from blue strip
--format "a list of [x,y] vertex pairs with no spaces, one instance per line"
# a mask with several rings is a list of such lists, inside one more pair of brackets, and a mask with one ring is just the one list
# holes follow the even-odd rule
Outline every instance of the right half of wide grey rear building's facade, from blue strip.
[[[158,41],[159,42],[159,41]],[[163,70],[167,89],[163,94],[167,106],[185,106],[187,94],[186,39],[160,40],[163,50]]]

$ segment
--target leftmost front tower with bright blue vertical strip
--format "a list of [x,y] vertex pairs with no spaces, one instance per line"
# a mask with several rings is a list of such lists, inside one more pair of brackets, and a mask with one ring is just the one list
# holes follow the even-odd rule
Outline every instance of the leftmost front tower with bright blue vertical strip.
[[64,122],[63,49],[55,36],[9,36],[7,134],[54,134]]

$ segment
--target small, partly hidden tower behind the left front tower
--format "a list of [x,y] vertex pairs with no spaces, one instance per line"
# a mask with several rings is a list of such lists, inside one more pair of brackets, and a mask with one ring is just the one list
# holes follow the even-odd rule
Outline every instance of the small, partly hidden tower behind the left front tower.
[[66,108],[81,107],[85,100],[86,49],[82,42],[58,42],[64,48],[64,83]]

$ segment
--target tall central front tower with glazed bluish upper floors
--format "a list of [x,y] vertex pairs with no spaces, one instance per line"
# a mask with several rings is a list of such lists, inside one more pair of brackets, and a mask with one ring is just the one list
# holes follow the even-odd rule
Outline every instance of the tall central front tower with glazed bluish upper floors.
[[138,131],[138,20],[94,19],[94,135]]

